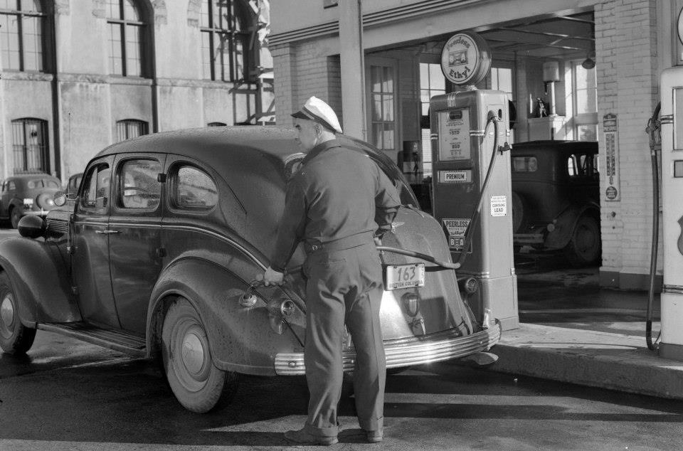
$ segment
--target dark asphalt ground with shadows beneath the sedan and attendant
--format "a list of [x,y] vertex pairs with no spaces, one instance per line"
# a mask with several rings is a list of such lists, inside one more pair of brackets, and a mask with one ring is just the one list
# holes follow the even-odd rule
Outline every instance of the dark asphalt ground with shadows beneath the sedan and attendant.
[[[0,450],[288,449],[305,420],[302,377],[245,376],[231,405],[189,413],[159,368],[38,331],[0,357]],[[339,445],[392,450],[678,450],[683,403],[445,363],[388,378],[382,445],[364,443],[350,398]]]

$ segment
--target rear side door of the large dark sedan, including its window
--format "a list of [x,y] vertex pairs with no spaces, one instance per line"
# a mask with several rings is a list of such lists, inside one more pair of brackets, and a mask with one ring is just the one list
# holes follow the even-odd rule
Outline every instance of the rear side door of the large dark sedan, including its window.
[[109,253],[122,329],[144,334],[147,305],[162,269],[164,154],[123,154],[115,161]]

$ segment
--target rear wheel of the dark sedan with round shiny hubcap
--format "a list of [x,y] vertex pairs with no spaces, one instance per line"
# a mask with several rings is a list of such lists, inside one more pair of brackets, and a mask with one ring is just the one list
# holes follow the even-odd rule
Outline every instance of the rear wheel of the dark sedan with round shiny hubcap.
[[206,413],[235,395],[238,373],[213,366],[206,329],[187,299],[179,298],[166,313],[162,359],[171,390],[191,412]]

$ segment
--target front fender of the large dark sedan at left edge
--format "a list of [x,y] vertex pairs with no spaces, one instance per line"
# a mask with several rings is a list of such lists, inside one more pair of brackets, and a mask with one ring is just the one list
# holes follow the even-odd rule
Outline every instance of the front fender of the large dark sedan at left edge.
[[81,320],[67,266],[54,243],[28,238],[0,241],[0,269],[9,275],[19,300],[21,324],[33,328],[37,322]]

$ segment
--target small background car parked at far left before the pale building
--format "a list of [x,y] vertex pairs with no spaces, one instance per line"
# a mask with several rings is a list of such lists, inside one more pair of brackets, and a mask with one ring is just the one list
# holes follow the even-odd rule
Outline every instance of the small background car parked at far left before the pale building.
[[0,184],[0,220],[18,226],[22,216],[46,216],[55,208],[53,197],[61,182],[49,174],[21,174]]

